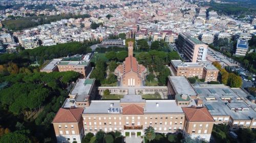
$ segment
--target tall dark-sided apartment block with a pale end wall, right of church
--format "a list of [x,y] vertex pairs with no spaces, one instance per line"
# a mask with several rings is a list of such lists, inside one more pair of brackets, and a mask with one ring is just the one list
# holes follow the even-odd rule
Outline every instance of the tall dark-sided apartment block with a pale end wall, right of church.
[[205,60],[208,46],[189,33],[180,33],[177,43],[179,51],[185,54],[187,61],[196,63]]

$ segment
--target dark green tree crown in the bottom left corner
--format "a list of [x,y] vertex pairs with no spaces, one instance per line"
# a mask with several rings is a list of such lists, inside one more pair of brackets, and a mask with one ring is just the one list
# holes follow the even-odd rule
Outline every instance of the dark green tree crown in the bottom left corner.
[[1,143],[31,143],[31,140],[24,134],[11,132],[5,134],[0,139]]

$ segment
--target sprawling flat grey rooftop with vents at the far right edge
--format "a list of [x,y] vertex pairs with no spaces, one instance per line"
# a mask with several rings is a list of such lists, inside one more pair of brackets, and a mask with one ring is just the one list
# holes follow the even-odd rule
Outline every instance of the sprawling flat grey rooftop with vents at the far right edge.
[[[231,110],[227,105],[232,107],[240,105],[246,105],[244,101],[238,100],[241,98],[241,95],[234,93],[227,86],[219,87],[194,87],[195,91],[198,93],[199,97],[203,100],[204,105],[208,108],[212,116],[231,116],[234,120],[249,120],[251,118],[256,118],[256,112],[252,108],[249,108],[247,111],[234,111]],[[213,96],[216,98],[216,101],[207,101],[206,98]],[[222,97],[231,98],[231,101],[223,101]],[[231,103],[231,104],[230,104]],[[235,104],[232,104],[235,103]],[[239,103],[239,104],[236,104]],[[242,103],[242,104],[240,104]]]

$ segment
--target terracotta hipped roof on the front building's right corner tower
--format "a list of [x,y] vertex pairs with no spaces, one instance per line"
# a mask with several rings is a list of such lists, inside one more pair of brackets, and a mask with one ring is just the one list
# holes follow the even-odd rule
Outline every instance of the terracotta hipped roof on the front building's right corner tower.
[[182,107],[182,110],[190,122],[214,122],[214,118],[205,107]]

